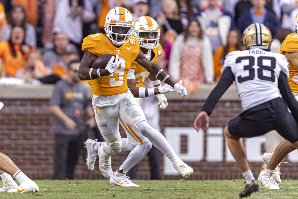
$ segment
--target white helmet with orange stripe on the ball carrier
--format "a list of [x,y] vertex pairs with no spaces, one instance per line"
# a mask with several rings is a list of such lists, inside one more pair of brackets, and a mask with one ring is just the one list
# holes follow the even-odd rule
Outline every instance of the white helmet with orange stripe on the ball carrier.
[[133,33],[133,16],[124,7],[114,7],[106,15],[105,31],[114,45],[124,44]]

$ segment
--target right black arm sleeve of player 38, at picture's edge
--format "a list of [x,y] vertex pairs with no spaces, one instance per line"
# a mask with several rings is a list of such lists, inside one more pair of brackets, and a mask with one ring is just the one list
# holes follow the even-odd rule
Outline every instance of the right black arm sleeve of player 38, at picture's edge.
[[279,78],[278,78],[278,89],[280,91],[280,94],[282,95],[282,98],[287,102],[288,107],[290,111],[292,112],[292,115],[298,121],[298,102],[295,99],[288,80],[287,75],[283,72],[280,72]]

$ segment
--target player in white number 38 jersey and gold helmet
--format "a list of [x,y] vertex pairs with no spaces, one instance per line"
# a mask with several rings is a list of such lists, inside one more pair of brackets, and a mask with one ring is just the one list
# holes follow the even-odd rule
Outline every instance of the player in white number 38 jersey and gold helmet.
[[[235,81],[244,111],[229,121],[224,128],[224,134],[228,147],[246,179],[246,186],[239,196],[247,197],[258,191],[259,185],[249,168],[240,138],[260,136],[276,130],[297,148],[298,102],[287,82],[287,58],[282,54],[269,52],[269,29],[259,23],[249,25],[243,32],[242,45],[243,51],[233,51],[226,56],[223,76],[210,93],[193,126],[198,131],[202,124],[205,124],[208,129],[209,115],[215,104]],[[262,183],[278,189],[277,183],[271,181],[271,178],[269,176],[262,179]]]

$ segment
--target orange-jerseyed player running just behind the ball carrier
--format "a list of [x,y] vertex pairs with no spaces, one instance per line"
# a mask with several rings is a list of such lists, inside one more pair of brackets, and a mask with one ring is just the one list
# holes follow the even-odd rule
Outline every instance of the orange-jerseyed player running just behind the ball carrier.
[[[157,22],[150,16],[139,17],[134,24],[133,34],[138,39],[141,51],[144,53],[146,58],[152,62],[156,62],[162,54],[162,48],[159,44],[160,30]],[[173,89],[165,89],[161,87],[160,81],[156,80],[154,75],[149,74],[150,73],[145,68],[141,67],[137,62],[133,62],[127,74],[127,84],[129,90],[134,95],[138,104],[140,98],[156,95],[159,100],[160,108],[164,109],[167,107],[168,102],[165,95],[160,93],[165,93]],[[154,88],[142,87],[145,78],[148,76],[152,85],[154,85]],[[147,94],[145,94],[146,90]],[[131,152],[119,169],[112,174],[110,183],[121,187],[137,187],[138,185],[132,183],[131,180],[127,180],[126,177],[123,178],[123,175],[125,176],[129,169],[138,164],[138,162],[151,149],[152,144],[147,137],[144,137],[133,126],[125,124],[121,118],[119,118],[119,123],[124,128],[127,136],[127,138],[122,138],[122,151]],[[97,158],[98,147],[105,144],[106,142],[97,142],[97,140],[92,139],[88,139],[85,142],[85,147],[87,148],[86,164],[88,169],[94,169],[94,162]],[[126,183],[120,184],[123,180],[126,180]]]

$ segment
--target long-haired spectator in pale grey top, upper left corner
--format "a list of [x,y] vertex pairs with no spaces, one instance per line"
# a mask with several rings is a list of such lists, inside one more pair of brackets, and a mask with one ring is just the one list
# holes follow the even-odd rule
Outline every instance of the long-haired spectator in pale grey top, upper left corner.
[[2,40],[9,40],[11,29],[20,26],[25,30],[25,43],[30,46],[36,46],[36,32],[33,25],[27,23],[25,8],[21,5],[15,5],[11,8],[7,19],[7,24],[2,29]]

